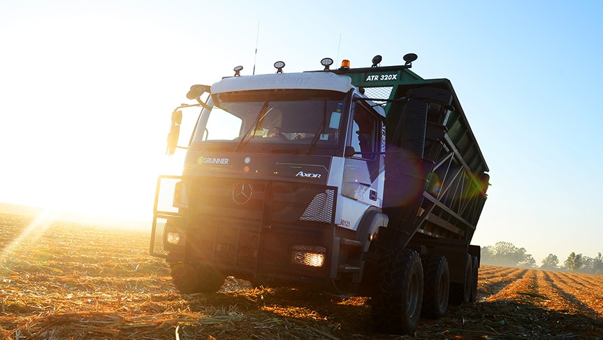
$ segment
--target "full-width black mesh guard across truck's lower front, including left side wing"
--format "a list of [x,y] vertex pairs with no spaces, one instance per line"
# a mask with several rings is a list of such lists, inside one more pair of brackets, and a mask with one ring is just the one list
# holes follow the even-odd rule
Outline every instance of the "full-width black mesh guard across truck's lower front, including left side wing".
[[[178,181],[185,183],[185,208],[170,201]],[[337,266],[336,196],[337,189],[325,185],[161,176],[151,255],[256,282],[329,284]]]

